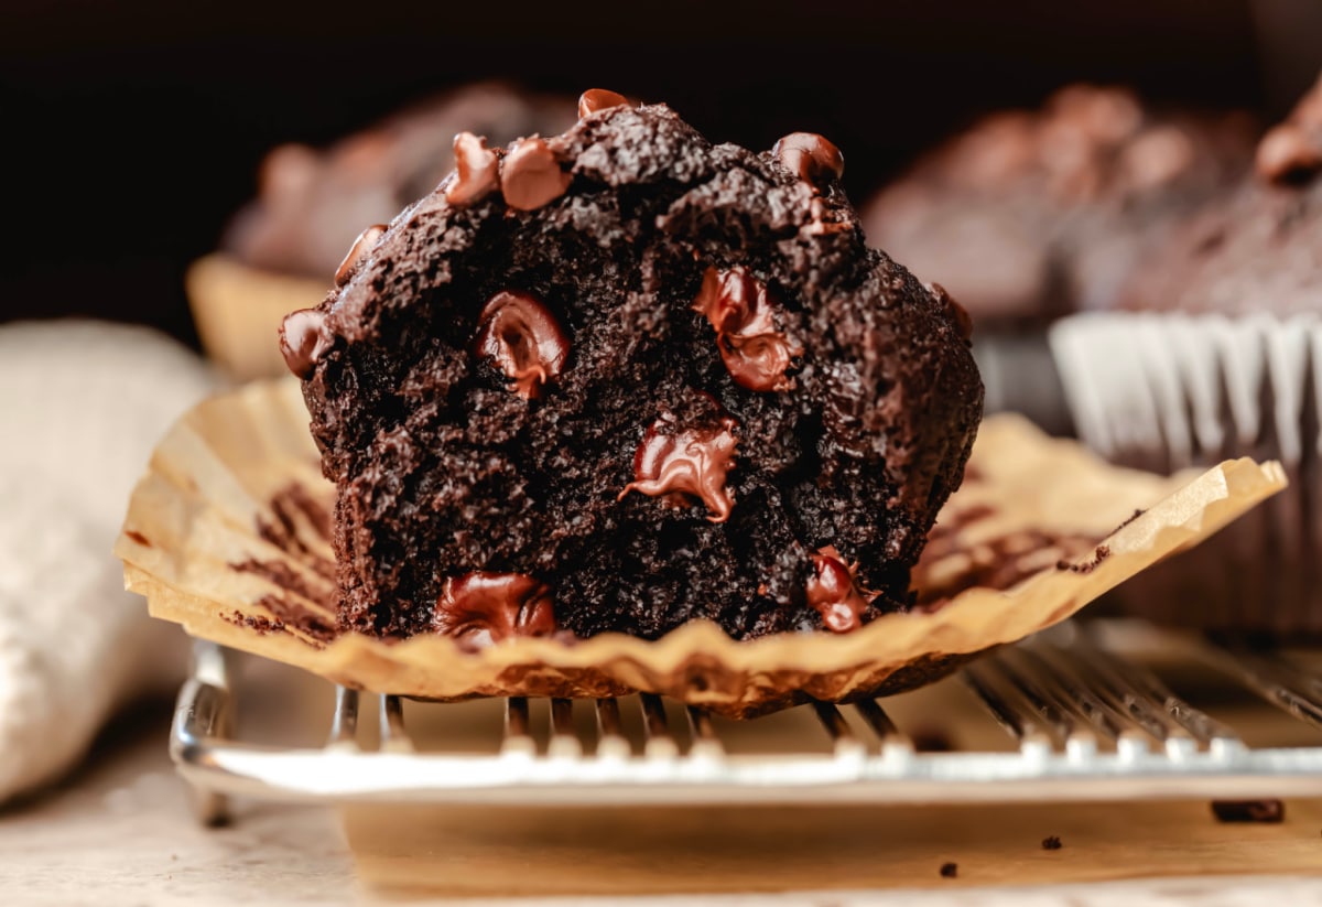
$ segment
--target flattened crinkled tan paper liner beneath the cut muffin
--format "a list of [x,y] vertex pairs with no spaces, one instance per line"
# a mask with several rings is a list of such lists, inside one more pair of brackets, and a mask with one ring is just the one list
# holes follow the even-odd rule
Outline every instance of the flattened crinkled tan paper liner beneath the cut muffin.
[[[276,521],[271,502],[292,485],[327,506],[333,498],[307,423],[292,379],[249,385],[188,413],[157,446],[130,501],[115,546],[126,586],[147,596],[152,615],[193,636],[346,686],[432,699],[644,690],[750,717],[808,698],[898,693],[1068,617],[1285,487],[1278,464],[1248,459],[1192,477],[1118,469],[1018,416],[994,416],[915,571],[925,604],[857,632],[739,643],[695,621],[657,641],[514,639],[480,652],[442,636],[386,643],[337,633],[321,643],[297,621],[272,623],[279,615],[262,602],[292,598],[333,627],[328,606],[297,596],[288,582],[233,567],[286,565],[309,588],[329,588],[330,549],[300,517],[293,529],[304,554],[258,532]],[[1146,510],[1136,518],[1137,508]],[[1010,587],[970,587],[988,578]]]

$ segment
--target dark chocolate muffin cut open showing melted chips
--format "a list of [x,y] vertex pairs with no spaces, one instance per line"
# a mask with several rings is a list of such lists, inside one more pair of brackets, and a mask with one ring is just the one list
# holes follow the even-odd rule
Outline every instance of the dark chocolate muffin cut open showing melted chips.
[[825,139],[580,112],[457,136],[457,172],[284,324],[342,624],[747,639],[904,608],[981,414],[966,320],[865,246]]

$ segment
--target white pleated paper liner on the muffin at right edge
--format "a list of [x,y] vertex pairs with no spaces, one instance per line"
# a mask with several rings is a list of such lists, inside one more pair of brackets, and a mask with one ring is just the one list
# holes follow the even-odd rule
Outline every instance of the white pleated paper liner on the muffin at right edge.
[[1322,319],[1096,313],[1051,328],[1079,438],[1171,472],[1280,460],[1292,488],[1117,594],[1126,611],[1223,632],[1322,635]]

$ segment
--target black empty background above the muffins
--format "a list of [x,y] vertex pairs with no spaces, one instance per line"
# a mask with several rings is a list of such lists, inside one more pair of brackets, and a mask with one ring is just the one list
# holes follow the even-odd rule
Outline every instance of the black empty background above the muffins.
[[1265,115],[1322,63],[1318,0],[323,3],[0,0],[0,320],[94,315],[193,341],[181,278],[262,153],[509,78],[666,100],[717,140],[845,149],[862,201],[978,112],[1063,83]]

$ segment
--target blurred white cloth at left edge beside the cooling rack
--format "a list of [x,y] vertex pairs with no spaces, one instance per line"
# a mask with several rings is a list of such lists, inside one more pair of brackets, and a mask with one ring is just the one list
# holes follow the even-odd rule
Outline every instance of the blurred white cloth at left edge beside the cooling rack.
[[66,772],[115,709],[178,680],[182,636],[123,591],[111,546],[152,446],[213,381],[143,328],[0,328],[0,801]]

